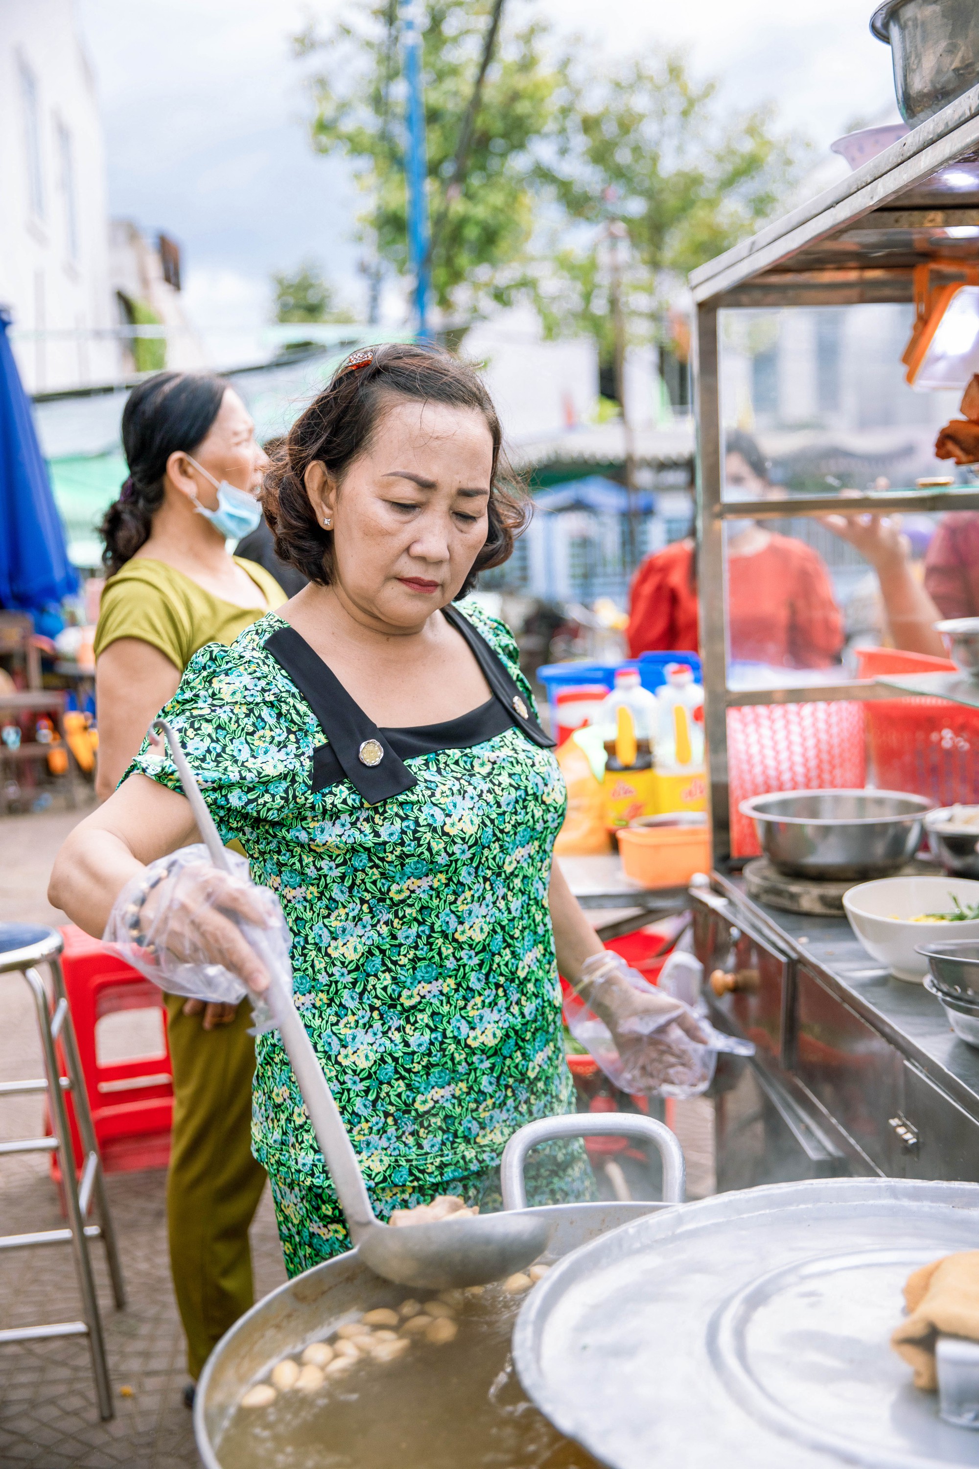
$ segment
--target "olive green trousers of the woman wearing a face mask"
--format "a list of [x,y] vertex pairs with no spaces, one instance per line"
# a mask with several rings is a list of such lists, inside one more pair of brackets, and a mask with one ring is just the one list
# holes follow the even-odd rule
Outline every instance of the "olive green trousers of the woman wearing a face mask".
[[248,1225],[266,1171],[251,1156],[251,1008],[205,1031],[166,995],[173,1064],[173,1137],[167,1175],[170,1269],[186,1334],[186,1366],[198,1378],[211,1349],[254,1302]]

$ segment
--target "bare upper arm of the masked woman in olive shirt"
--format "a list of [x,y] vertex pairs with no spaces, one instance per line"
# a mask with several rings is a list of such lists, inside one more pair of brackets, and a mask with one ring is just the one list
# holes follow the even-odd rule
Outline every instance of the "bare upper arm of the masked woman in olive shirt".
[[173,698],[181,670],[153,643],[119,638],[98,655],[98,770],[95,792],[107,801],[145,737],[150,720]]

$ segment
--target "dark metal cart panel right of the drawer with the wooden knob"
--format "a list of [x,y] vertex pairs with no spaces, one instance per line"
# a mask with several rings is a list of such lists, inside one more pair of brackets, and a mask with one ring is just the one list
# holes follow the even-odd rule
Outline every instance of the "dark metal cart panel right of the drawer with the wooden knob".
[[901,1055],[804,967],[796,990],[796,1075],[857,1147],[894,1175],[900,1144],[889,1119],[901,1111]]

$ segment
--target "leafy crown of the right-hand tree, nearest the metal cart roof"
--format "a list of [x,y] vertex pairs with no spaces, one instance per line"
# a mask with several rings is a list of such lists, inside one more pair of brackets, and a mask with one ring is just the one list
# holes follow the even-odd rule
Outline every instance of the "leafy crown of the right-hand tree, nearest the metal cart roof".
[[694,82],[680,53],[597,68],[580,56],[565,59],[543,176],[565,237],[577,232],[524,284],[547,335],[586,331],[608,361],[612,253],[633,336],[658,335],[677,284],[774,213],[804,145],[779,138],[768,109],[724,118],[716,82]]

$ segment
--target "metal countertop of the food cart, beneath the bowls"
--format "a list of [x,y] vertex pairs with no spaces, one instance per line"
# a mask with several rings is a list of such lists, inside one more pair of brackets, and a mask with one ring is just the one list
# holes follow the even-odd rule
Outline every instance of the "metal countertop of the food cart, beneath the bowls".
[[941,1005],[922,984],[895,980],[875,964],[844,917],[790,914],[757,903],[746,895],[740,876],[715,874],[715,883],[826,989],[979,1118],[979,1050],[954,1034]]

